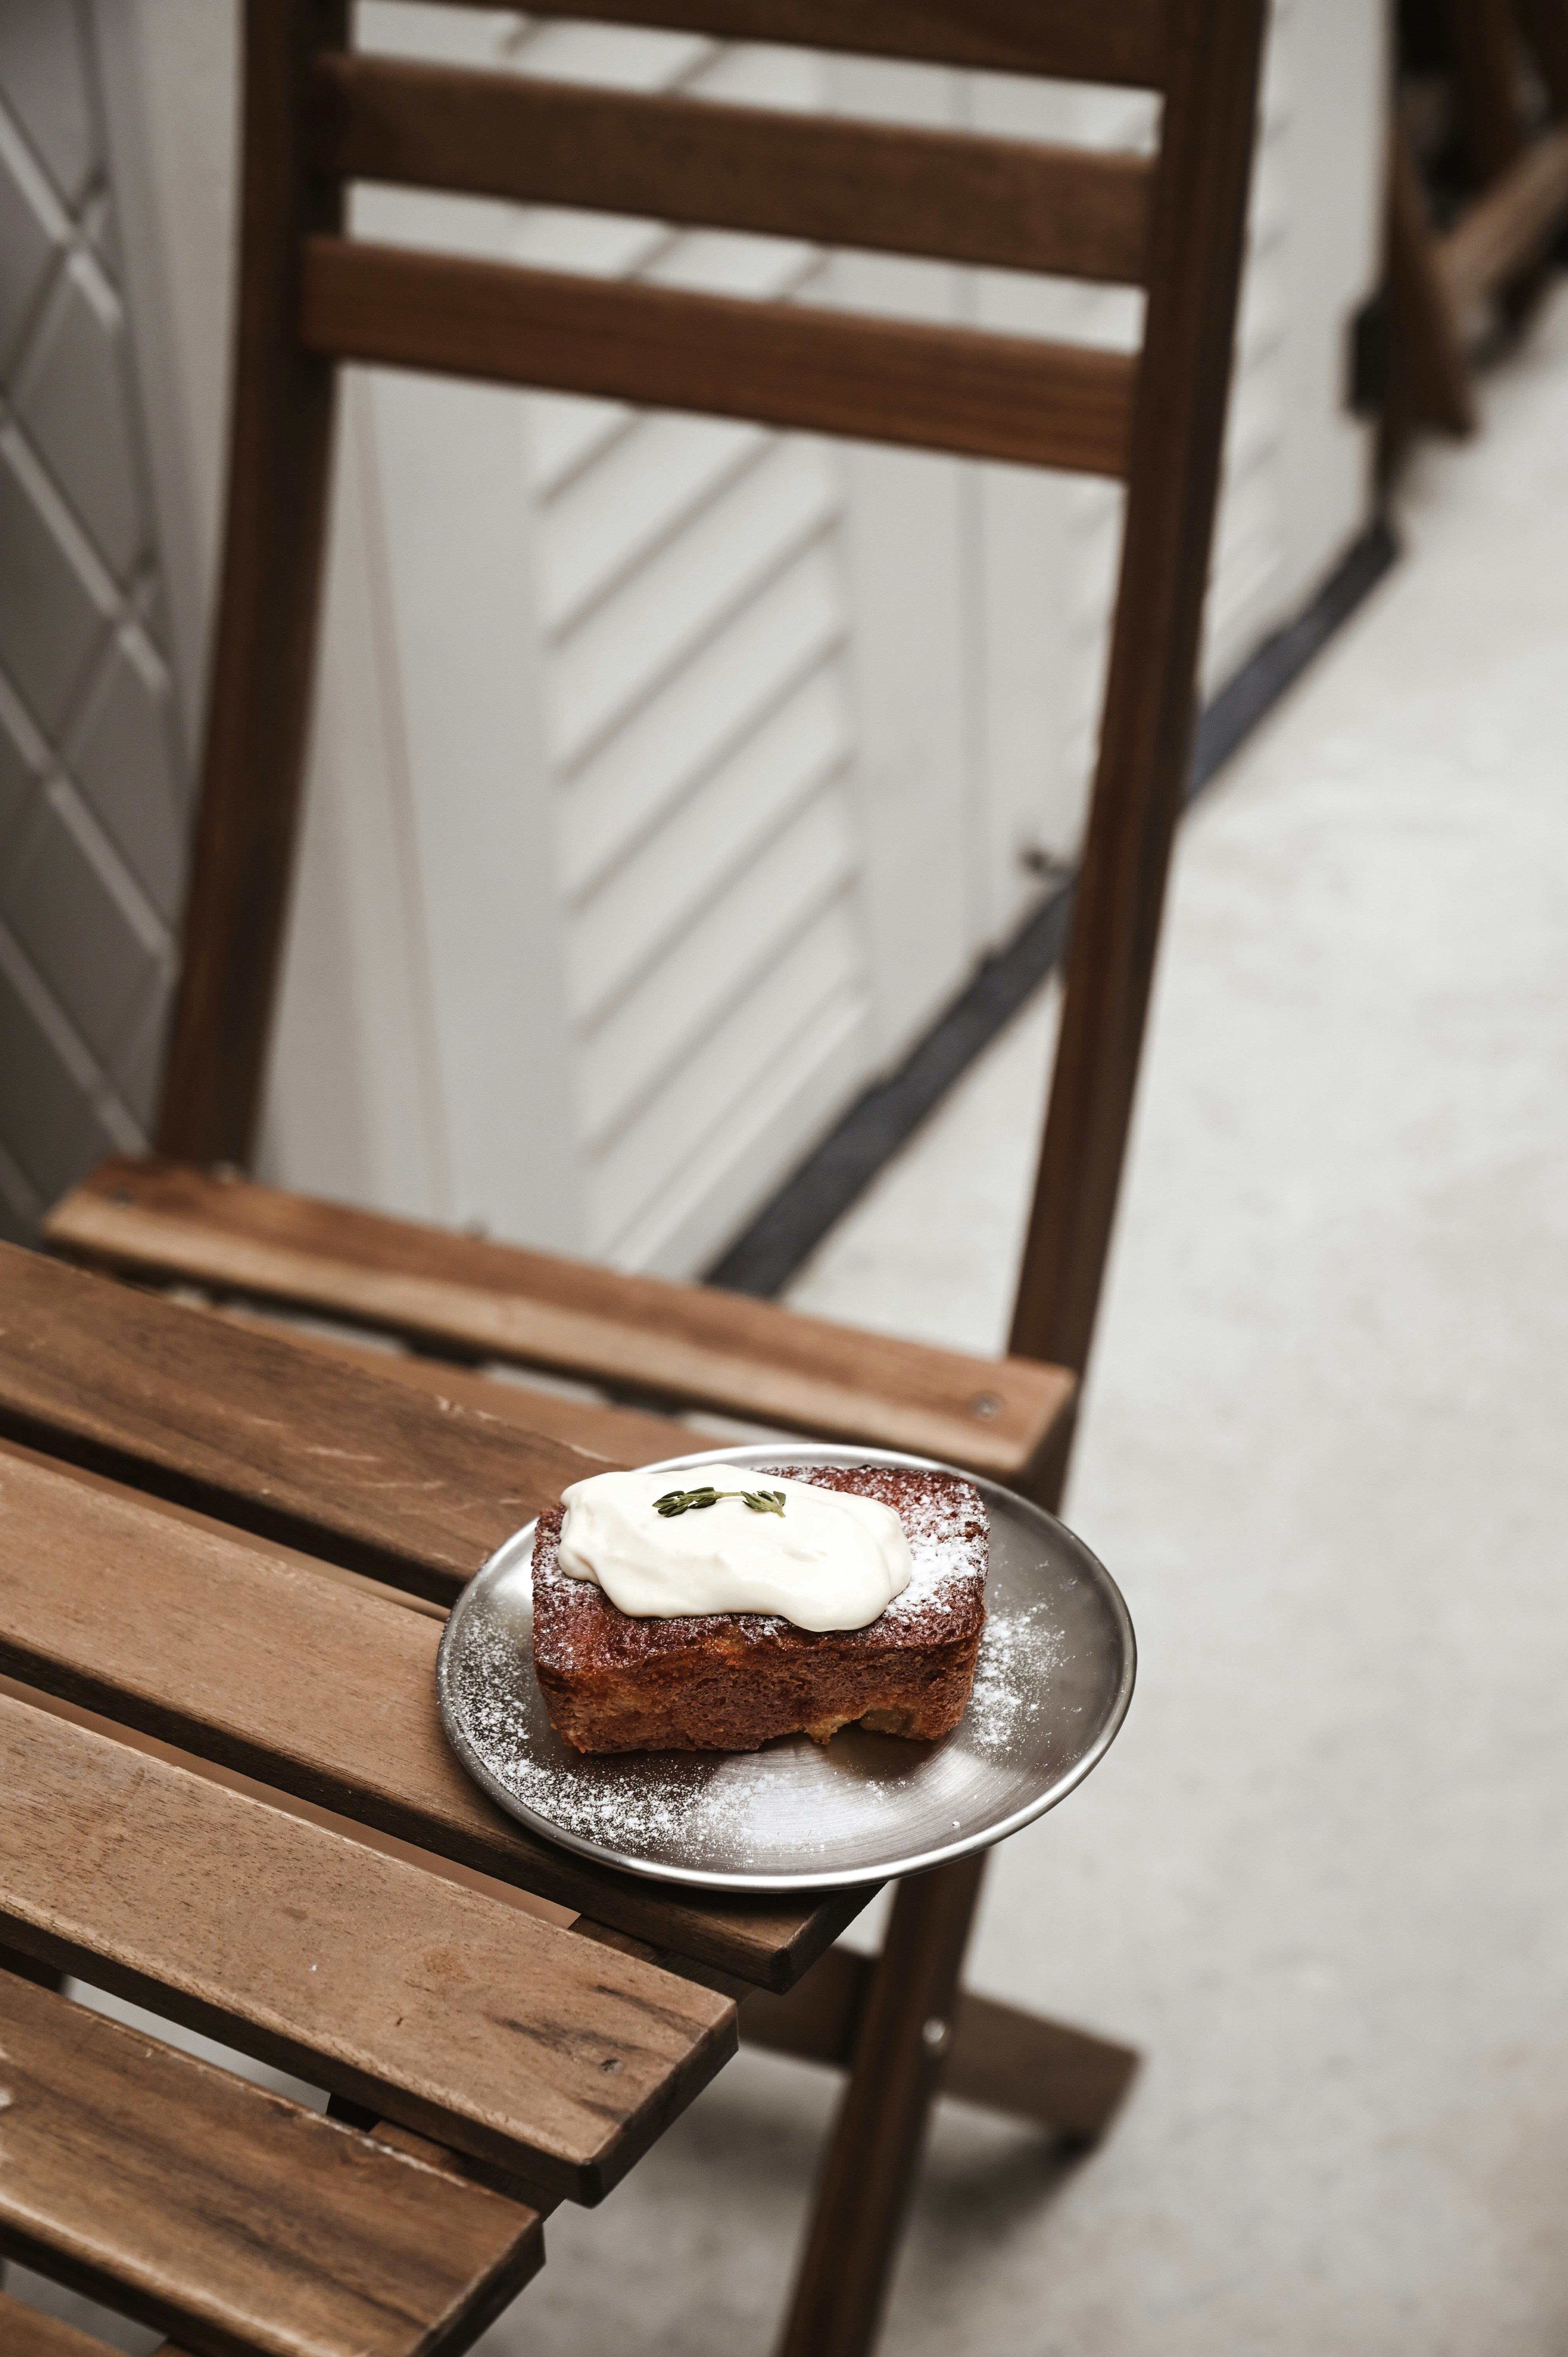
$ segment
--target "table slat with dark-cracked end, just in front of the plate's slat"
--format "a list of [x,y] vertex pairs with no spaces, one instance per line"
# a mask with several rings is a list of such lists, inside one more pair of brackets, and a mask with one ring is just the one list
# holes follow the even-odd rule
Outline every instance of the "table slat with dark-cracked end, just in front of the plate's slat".
[[545,2192],[736,2048],[691,1980],[7,1697],[0,1780],[2,1937]]

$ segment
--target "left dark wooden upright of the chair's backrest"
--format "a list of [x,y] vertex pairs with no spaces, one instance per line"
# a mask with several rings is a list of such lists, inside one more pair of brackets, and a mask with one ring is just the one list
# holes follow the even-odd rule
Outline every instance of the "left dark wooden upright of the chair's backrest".
[[248,1162],[283,955],[316,667],[337,370],[295,335],[302,238],[342,186],[304,156],[311,59],[349,0],[245,7],[229,516],[207,738],[158,1143]]

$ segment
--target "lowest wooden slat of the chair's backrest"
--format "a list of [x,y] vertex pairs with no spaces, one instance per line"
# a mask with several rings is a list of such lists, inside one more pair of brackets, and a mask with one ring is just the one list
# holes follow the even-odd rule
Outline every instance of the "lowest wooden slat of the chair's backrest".
[[1019,467],[1122,476],[1137,363],[566,271],[307,238],[307,349]]

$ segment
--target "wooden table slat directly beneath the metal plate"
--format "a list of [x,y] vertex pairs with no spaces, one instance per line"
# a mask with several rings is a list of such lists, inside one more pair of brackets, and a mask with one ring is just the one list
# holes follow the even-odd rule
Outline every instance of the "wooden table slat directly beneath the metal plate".
[[710,1897],[538,1838],[441,1732],[439,1638],[396,1603],[0,1454],[9,1676],[762,1987],[790,1987],[865,1904]]

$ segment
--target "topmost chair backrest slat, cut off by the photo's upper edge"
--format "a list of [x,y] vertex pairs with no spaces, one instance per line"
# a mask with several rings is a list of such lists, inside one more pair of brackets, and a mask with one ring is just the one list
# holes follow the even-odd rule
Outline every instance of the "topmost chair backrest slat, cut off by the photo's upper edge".
[[[450,5],[474,7],[474,0]],[[592,9],[535,7],[531,14],[1042,73],[1063,82],[1158,90],[1165,80],[1165,0],[1111,0],[1101,9],[1082,0],[597,0]]]

